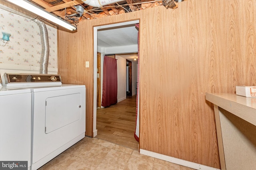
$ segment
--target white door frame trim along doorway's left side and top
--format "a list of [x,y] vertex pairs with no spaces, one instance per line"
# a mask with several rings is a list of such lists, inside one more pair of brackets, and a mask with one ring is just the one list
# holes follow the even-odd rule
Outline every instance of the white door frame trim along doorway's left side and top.
[[114,23],[109,25],[101,25],[93,27],[93,43],[94,43],[94,88],[93,88],[93,137],[97,136],[97,129],[96,129],[96,113],[97,113],[97,49],[98,49],[98,29],[104,29],[104,28],[111,28],[111,27],[118,27],[122,25],[130,25],[139,23],[140,20],[134,20],[134,21],[126,21],[126,22],[120,22],[120,23]]

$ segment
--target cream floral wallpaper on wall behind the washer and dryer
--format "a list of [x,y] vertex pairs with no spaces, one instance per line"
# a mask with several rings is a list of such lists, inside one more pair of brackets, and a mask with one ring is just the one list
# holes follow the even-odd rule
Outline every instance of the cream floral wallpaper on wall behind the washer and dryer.
[[[57,29],[47,24],[50,45],[48,71],[57,72]],[[5,46],[0,40],[0,69],[39,70],[42,45],[36,22],[0,9],[0,38],[2,31],[11,35]]]

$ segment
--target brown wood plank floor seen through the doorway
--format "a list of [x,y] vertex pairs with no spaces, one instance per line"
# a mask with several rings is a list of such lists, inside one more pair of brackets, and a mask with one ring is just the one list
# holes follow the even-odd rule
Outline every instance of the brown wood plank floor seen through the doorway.
[[134,139],[136,128],[136,95],[109,107],[97,109],[98,129],[95,138],[138,150]]

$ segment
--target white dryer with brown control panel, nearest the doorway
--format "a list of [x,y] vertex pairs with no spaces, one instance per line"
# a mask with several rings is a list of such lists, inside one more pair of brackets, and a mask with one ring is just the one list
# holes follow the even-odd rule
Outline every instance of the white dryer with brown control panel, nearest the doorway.
[[5,73],[7,86],[32,94],[32,165],[36,170],[85,137],[84,85],[62,84],[59,75]]

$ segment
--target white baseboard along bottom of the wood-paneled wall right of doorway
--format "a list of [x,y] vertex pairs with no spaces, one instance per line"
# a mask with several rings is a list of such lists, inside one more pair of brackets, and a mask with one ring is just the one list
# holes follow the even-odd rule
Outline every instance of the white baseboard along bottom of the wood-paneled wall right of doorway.
[[182,165],[182,166],[186,166],[186,167],[189,167],[189,168],[194,168],[196,170],[220,170],[220,169],[213,168],[213,167],[210,167],[210,166],[198,164],[198,163],[195,163],[195,162],[190,162],[190,161],[179,159],[179,158],[174,158],[172,156],[167,156],[167,155],[164,155],[164,154],[159,154],[159,153],[151,152],[151,151],[144,150],[144,149],[140,149],[140,154],[144,154],[144,155],[147,155],[147,156],[151,156],[153,158],[158,158],[158,159],[161,159],[161,160],[165,160],[165,161],[172,162],[174,164],[179,164],[179,165]]

